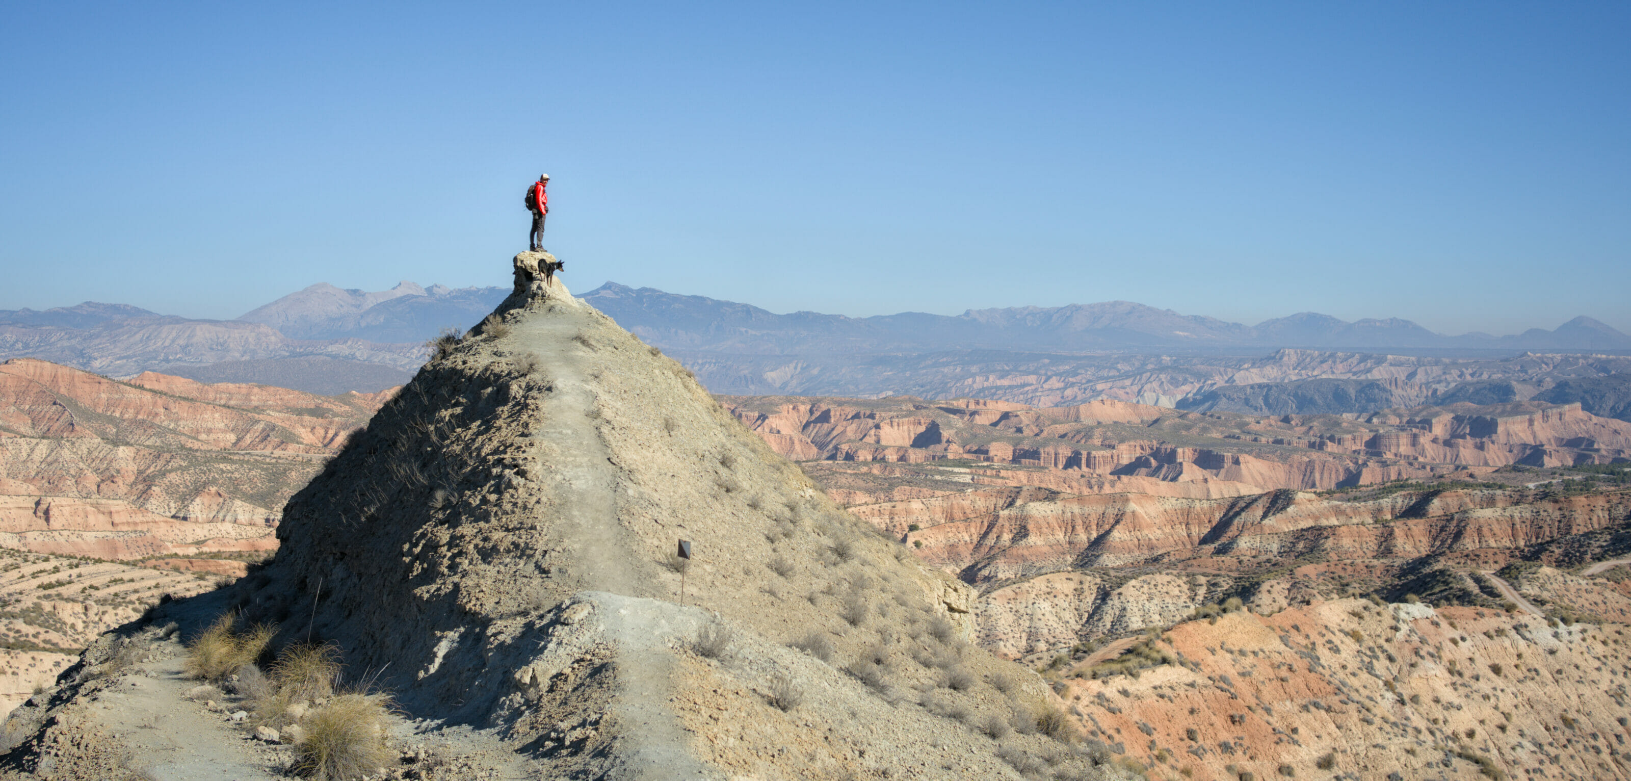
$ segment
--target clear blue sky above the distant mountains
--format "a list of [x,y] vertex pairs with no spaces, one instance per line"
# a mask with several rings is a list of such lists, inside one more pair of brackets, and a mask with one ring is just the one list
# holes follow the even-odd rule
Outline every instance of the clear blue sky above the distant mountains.
[[[343,8],[341,8],[343,5]],[[1631,333],[1631,3],[15,3],[0,308],[603,280]]]

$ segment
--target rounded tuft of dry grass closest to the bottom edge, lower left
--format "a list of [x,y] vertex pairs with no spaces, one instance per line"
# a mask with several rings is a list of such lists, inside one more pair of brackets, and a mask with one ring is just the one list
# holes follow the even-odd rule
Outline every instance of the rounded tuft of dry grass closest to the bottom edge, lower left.
[[339,695],[307,716],[295,743],[294,771],[318,781],[352,781],[383,773],[396,753],[385,747],[385,695]]

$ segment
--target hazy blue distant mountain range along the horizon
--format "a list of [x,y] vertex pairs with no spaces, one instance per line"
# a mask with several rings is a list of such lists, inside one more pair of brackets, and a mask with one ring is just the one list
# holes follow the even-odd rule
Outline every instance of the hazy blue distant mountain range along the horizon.
[[[157,370],[310,393],[373,391],[411,377],[426,339],[445,328],[473,326],[507,293],[504,287],[413,282],[378,292],[316,284],[227,321],[95,302],[44,311],[0,310],[0,359],[39,357],[113,377]],[[1478,398],[1530,398],[1562,378],[1579,380],[1582,390],[1571,393],[1608,398],[1618,393],[1611,390],[1618,380],[1603,385],[1598,378],[1624,372],[1623,360],[1561,362],[1579,364],[1567,373],[1561,364],[1502,368],[1491,359],[1525,351],[1631,352],[1631,338],[1585,316],[1553,331],[1443,336],[1408,320],[1346,323],[1300,313],[1246,326],[1130,302],[850,318],[776,315],[747,303],[615,282],[584,298],[683,360],[716,393],[739,395],[967,395],[1041,404],[1125,398],[1194,409],[1352,413],[1448,393],[1458,385],[1440,380],[1432,386],[1378,388],[1373,382],[1474,357],[1481,359],[1476,372],[1468,368],[1473,373],[1463,377],[1435,368],[1435,377],[1518,383],[1460,391]],[[1422,357],[1390,359],[1388,352]],[[1310,380],[1341,382],[1244,386]]]

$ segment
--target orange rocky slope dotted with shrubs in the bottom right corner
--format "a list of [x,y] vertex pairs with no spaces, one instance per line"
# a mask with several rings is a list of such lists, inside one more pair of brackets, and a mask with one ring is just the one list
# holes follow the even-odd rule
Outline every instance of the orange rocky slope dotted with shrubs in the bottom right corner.
[[1631,778],[1623,624],[1334,600],[1145,647],[1049,675],[1151,778]]

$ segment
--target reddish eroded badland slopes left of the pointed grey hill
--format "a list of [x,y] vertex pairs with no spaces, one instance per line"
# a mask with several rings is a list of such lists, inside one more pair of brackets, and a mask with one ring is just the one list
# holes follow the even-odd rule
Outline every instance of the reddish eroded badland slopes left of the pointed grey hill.
[[390,393],[313,396],[0,364],[0,546],[103,559],[271,549],[282,502]]

